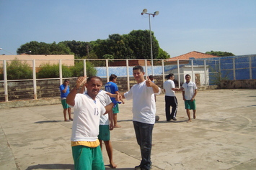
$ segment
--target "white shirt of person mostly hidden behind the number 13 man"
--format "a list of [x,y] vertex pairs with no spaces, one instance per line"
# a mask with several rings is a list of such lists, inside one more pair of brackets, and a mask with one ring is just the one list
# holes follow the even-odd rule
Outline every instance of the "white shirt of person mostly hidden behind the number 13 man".
[[[97,94],[96,98],[100,100],[103,106],[109,105],[112,103],[110,96],[107,95],[107,92],[104,90],[100,90],[100,93]],[[109,125],[110,121],[108,119],[108,114],[100,116],[100,125]]]

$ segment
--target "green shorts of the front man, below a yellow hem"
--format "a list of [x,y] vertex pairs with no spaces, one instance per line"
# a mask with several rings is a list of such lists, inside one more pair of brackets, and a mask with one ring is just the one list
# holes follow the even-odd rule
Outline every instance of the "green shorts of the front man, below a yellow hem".
[[100,146],[97,146],[96,148],[72,146],[72,154],[76,170],[105,170]]

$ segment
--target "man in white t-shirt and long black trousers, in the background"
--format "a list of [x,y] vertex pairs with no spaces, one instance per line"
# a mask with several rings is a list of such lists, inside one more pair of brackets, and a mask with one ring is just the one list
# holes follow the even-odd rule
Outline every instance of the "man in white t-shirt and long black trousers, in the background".
[[[164,82],[164,93],[165,93],[165,115],[167,121],[177,121],[177,108],[178,108],[178,101],[175,96],[175,91],[180,91],[180,88],[175,88],[175,75],[170,73],[165,77],[167,80]],[[172,106],[172,113],[170,112],[170,107]]]

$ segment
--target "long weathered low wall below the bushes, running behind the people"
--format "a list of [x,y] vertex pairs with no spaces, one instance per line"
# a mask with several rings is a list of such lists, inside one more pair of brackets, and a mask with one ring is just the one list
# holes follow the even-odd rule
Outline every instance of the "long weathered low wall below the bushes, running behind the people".
[[[70,87],[73,88],[76,80],[70,80]],[[107,82],[107,79],[102,79],[103,85]],[[154,82],[159,88],[163,86],[162,76],[154,76]],[[127,78],[119,77],[118,89],[120,92],[128,91]],[[136,84],[136,80],[130,77],[130,88]],[[0,108],[18,108],[27,107],[33,105],[53,105],[61,104],[59,80],[37,80],[37,100],[34,99],[34,90],[32,81],[17,81],[8,82],[8,102],[5,102],[4,98],[4,83],[0,82]],[[208,87],[198,87],[198,90],[209,90],[219,88],[216,85]],[[104,86],[102,86],[104,90]],[[162,93],[163,90],[162,90]]]

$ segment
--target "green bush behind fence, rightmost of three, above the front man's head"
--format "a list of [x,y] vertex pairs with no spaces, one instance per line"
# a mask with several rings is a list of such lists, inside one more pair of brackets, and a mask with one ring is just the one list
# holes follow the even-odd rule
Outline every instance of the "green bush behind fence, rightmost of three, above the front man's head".
[[[86,62],[87,65],[87,77],[97,74],[97,70],[94,68],[91,62]],[[84,76],[84,62],[79,61],[75,63],[74,67],[70,68],[73,73],[73,77]]]

